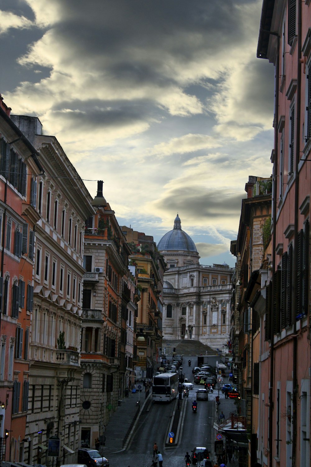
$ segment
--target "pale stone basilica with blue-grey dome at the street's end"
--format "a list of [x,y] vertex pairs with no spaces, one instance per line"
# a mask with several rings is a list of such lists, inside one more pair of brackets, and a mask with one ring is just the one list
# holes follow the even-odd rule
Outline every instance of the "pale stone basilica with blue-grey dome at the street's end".
[[200,340],[213,349],[228,345],[233,269],[203,266],[177,214],[173,230],[159,241],[167,268],[163,286],[163,337]]

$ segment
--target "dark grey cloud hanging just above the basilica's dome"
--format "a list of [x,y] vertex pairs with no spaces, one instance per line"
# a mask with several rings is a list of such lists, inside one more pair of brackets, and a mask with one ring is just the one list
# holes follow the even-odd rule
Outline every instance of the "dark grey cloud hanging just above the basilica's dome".
[[223,218],[237,216],[241,212],[242,193],[228,194],[221,190],[203,190],[194,187],[178,188],[170,191],[165,198],[156,203],[159,209],[178,211],[182,207],[189,219]]

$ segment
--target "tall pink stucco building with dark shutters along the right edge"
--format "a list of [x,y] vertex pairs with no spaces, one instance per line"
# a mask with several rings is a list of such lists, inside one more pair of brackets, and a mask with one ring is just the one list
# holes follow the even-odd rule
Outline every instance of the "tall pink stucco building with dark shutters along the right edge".
[[261,318],[257,457],[310,465],[311,2],[264,0],[257,57],[275,66],[272,243]]

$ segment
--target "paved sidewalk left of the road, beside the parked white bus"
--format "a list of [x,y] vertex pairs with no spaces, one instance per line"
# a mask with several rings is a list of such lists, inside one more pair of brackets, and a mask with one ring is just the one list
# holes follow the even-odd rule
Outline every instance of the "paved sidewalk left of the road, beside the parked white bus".
[[[124,448],[123,441],[126,433],[131,427],[133,418],[138,410],[138,399],[140,401],[140,410],[145,403],[145,391],[141,393],[130,392],[128,397],[122,399],[121,405],[117,407],[115,413],[111,415],[108,425],[105,430],[105,446],[100,447],[100,452],[104,456],[109,453],[122,451]],[[131,431],[131,430],[130,430]],[[127,440],[129,437],[127,437]]]

